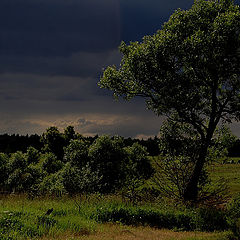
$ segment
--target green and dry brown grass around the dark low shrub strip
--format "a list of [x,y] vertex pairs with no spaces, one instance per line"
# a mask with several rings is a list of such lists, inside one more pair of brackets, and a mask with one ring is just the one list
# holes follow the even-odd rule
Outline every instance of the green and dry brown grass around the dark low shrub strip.
[[[121,223],[97,223],[91,211],[99,204],[107,204],[97,197],[34,199],[26,196],[7,196],[0,200],[0,239],[219,239],[222,233],[179,232],[148,226],[126,226]],[[81,201],[81,205],[80,205]],[[95,207],[94,207],[95,206]],[[53,208],[51,215],[45,213]],[[177,230],[177,229],[176,229]]]

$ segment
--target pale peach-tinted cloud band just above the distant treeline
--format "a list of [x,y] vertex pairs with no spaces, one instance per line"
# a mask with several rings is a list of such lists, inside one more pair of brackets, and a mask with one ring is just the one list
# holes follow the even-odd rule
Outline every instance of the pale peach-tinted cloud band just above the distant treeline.
[[[47,114],[21,116],[12,118],[12,115],[5,114],[0,119],[0,134],[42,134],[48,127],[57,126],[63,131],[67,126],[74,126],[75,130],[86,136],[94,135],[121,135],[124,137],[149,137],[158,134],[162,118],[150,115],[139,116],[122,114]],[[151,126],[151,127],[150,127]],[[154,126],[154,127],[153,127]],[[139,131],[139,129],[141,129]],[[37,131],[36,131],[37,130]]]

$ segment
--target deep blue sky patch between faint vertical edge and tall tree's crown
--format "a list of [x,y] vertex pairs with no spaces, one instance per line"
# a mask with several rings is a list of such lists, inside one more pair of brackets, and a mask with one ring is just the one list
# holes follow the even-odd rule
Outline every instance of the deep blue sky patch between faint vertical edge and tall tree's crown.
[[193,0],[121,0],[122,39],[140,41],[145,35],[152,35],[177,8],[191,7]]

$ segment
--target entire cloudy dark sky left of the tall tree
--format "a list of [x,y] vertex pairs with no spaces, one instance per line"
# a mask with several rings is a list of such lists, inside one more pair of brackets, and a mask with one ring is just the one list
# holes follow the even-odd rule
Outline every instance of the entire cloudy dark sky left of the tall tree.
[[[154,34],[193,0],[1,0],[0,134],[69,125],[83,135],[148,138],[163,118],[97,85],[118,46]],[[233,125],[240,135],[238,124]]]

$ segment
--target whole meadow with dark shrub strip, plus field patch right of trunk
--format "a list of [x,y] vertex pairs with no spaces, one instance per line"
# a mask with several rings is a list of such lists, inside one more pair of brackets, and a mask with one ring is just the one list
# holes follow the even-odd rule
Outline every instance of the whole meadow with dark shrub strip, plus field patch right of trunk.
[[[240,165],[215,164],[229,199],[240,192]],[[0,239],[231,239],[225,210],[185,208],[163,199],[133,204],[121,195],[1,195]],[[231,227],[230,227],[231,228]]]

